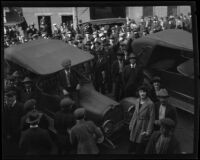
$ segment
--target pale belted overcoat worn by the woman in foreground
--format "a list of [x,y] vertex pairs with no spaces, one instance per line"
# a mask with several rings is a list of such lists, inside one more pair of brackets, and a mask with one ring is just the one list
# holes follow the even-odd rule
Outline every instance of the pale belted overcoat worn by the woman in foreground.
[[155,120],[155,107],[150,98],[147,98],[140,109],[139,103],[140,99],[137,99],[136,108],[129,124],[130,141],[135,143],[143,141],[144,136],[140,135],[142,132],[152,133]]

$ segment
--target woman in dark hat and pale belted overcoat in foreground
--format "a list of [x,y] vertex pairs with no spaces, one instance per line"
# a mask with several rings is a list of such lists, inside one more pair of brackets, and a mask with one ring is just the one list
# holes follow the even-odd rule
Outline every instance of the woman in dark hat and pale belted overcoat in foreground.
[[135,104],[135,112],[129,124],[131,142],[129,153],[142,154],[145,150],[147,140],[153,131],[155,107],[154,103],[147,96],[146,86],[139,87],[138,92],[139,98]]

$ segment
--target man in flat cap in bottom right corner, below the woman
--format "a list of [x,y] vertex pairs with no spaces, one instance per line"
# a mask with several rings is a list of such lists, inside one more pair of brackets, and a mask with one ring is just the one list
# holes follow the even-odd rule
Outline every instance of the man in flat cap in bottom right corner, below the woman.
[[175,122],[164,118],[160,126],[160,130],[151,135],[145,154],[180,154],[180,144],[174,135]]

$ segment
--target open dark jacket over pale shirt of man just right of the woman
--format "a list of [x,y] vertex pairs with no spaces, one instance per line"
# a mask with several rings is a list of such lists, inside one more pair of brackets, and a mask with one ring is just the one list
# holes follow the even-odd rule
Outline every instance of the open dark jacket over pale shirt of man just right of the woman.
[[[160,102],[157,102],[155,104],[155,120],[159,119],[159,109],[160,109]],[[177,113],[176,113],[176,108],[171,106],[170,104],[167,105],[166,111],[165,111],[165,118],[170,118],[172,119],[175,124],[177,124]]]

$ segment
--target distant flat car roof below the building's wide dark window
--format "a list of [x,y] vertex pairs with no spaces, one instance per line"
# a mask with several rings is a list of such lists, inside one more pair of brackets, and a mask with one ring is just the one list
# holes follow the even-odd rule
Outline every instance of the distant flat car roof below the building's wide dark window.
[[97,19],[97,20],[90,20],[79,25],[85,25],[87,23],[93,25],[101,25],[101,24],[113,24],[113,23],[126,23],[126,18],[107,18],[107,19]]

